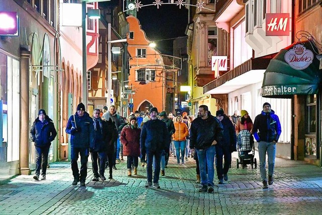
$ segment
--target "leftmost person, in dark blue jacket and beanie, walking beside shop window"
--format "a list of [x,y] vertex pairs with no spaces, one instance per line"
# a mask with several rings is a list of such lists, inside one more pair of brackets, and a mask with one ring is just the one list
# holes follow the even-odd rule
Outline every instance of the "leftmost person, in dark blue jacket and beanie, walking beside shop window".
[[35,143],[36,147],[36,173],[34,179],[39,180],[41,168],[41,180],[45,180],[49,148],[51,141],[53,141],[57,135],[57,131],[54,123],[47,116],[44,109],[38,111],[38,117],[32,124],[30,134],[31,140]]

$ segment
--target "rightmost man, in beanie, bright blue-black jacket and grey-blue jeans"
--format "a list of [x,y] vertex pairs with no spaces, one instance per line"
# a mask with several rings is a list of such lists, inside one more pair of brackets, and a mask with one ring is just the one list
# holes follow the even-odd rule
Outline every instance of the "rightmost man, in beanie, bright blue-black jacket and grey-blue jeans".
[[[273,184],[273,173],[275,165],[276,142],[281,135],[281,124],[278,116],[271,109],[268,102],[263,104],[263,111],[257,115],[254,121],[252,133],[258,142],[258,153],[260,158],[260,173],[263,181],[263,189]],[[268,156],[268,180],[266,178],[266,152]]]

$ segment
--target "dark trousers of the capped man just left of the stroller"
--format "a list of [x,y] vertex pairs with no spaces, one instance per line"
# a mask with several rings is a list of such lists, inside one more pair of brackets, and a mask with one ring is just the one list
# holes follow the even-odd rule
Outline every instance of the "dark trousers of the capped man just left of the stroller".
[[[222,157],[224,157],[224,165],[222,164]],[[217,177],[219,180],[223,179],[223,174],[227,174],[231,163],[231,153],[229,146],[216,145],[217,158]],[[222,167],[223,165],[223,167]]]

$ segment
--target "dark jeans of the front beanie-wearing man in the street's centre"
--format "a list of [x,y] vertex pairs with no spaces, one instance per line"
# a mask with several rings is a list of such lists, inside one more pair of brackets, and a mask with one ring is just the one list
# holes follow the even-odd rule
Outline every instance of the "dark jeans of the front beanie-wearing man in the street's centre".
[[158,181],[159,181],[161,154],[162,154],[162,151],[146,152],[146,165],[147,165],[147,167],[146,167],[146,175],[147,175],[147,181],[148,182],[152,182],[153,157],[155,159],[155,169],[154,169],[153,183],[158,183]]

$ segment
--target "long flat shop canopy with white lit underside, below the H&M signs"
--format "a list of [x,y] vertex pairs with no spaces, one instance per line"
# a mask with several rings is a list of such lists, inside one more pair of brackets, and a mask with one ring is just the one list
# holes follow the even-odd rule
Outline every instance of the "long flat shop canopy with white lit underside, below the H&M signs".
[[263,81],[264,72],[275,54],[251,58],[203,87],[203,94],[227,94]]

